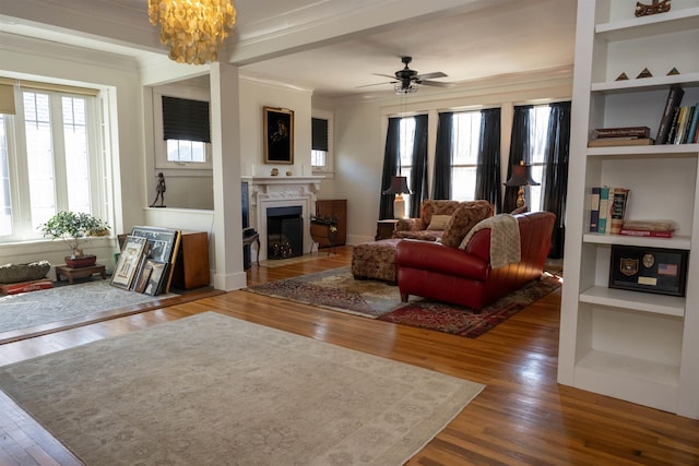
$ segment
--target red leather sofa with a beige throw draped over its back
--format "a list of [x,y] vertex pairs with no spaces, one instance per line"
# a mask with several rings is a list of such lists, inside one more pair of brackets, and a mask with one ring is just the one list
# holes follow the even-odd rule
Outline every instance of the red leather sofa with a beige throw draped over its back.
[[521,261],[490,267],[490,229],[471,237],[464,250],[439,242],[405,239],[398,243],[398,286],[401,300],[410,295],[465,306],[479,311],[498,298],[540,278],[550,249],[556,215],[514,215],[519,224]]

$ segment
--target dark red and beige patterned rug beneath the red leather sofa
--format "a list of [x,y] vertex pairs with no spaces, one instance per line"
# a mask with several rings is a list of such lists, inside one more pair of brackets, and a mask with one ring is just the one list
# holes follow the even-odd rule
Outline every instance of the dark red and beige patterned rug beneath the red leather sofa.
[[479,314],[469,308],[413,296],[407,303],[401,302],[398,286],[381,280],[355,280],[348,266],[256,285],[246,290],[475,338],[560,286],[560,277],[545,273],[541,280],[532,282],[483,308]]

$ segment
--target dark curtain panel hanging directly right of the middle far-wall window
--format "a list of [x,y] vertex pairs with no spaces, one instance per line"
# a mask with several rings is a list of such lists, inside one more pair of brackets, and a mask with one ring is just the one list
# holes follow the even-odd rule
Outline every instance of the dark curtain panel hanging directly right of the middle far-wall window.
[[499,108],[481,110],[479,141],[475,199],[485,199],[499,207],[502,202]]

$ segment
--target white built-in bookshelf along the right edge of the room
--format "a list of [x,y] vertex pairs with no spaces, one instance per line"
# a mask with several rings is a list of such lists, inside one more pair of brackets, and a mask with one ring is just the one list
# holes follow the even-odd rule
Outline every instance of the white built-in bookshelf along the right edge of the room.
[[[699,101],[699,1],[642,17],[633,9],[578,2],[558,381],[697,419],[699,144],[588,147],[596,128],[649,127],[654,138],[672,85],[682,105]],[[644,69],[652,76],[636,77]],[[672,219],[674,237],[590,232],[601,186],[628,188],[625,218]],[[615,244],[689,251],[686,296],[611,288]]]

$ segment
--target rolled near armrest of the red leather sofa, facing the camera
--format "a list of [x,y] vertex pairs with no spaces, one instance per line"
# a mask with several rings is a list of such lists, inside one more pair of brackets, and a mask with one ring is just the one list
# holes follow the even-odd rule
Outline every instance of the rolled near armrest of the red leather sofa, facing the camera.
[[395,248],[399,267],[417,268],[445,275],[484,280],[488,275],[488,260],[439,242],[404,239]]

